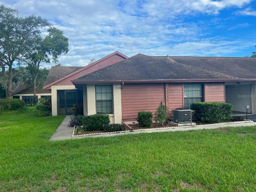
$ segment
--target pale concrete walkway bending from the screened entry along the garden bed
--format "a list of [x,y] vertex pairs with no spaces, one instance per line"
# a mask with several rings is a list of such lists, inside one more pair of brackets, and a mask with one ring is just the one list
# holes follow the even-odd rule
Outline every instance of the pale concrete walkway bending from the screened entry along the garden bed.
[[[126,135],[126,134],[136,134],[136,133],[153,133],[153,132],[170,132],[170,131],[188,131],[188,130],[200,130],[200,129],[216,129],[222,127],[238,127],[238,126],[254,126],[256,122],[246,121],[246,122],[232,122],[232,123],[220,123],[220,124],[211,124],[211,125],[197,125],[197,126],[184,126],[184,127],[170,127],[170,128],[153,128],[153,129],[142,129],[134,131],[124,131],[120,133],[102,133],[102,134],[88,134],[82,136],[73,135],[73,127],[68,127],[68,122],[72,116],[66,116],[60,126],[56,129],[52,137],[53,140],[66,140],[66,139],[76,139],[76,138],[89,138],[89,137],[109,137],[117,135]],[[248,118],[249,119],[249,118]]]

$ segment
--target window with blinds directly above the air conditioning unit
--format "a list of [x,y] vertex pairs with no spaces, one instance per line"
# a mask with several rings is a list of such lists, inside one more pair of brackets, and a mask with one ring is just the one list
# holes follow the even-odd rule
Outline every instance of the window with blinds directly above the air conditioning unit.
[[184,84],[184,108],[190,109],[190,105],[203,101],[202,84]]

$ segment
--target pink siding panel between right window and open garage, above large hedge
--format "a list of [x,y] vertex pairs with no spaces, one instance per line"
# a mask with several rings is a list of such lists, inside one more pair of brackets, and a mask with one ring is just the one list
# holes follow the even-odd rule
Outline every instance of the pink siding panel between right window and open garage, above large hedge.
[[205,102],[225,102],[224,83],[205,83],[204,84]]

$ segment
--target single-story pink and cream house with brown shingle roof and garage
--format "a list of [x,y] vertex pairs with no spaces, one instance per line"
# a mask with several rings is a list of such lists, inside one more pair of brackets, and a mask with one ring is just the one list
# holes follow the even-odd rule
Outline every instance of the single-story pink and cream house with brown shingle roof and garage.
[[52,114],[69,114],[69,99],[78,100],[70,90],[80,92],[85,115],[107,113],[114,123],[134,122],[139,111],[154,113],[160,103],[170,117],[172,109],[201,101],[232,103],[237,114],[249,105],[256,114],[256,58],[113,54],[120,60],[98,66],[99,60],[44,86],[55,95]]

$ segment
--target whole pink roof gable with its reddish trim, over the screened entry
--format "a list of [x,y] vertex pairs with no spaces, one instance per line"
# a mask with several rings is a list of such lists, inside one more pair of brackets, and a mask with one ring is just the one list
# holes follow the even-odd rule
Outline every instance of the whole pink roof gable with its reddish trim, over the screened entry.
[[[56,74],[55,72],[50,73],[52,70],[52,68],[51,68],[51,70],[49,72],[49,75],[50,75],[49,79],[52,79],[52,80],[47,80],[43,89],[50,89],[51,86],[53,86],[53,85],[54,86],[55,85],[73,85],[71,80],[74,80],[76,78],[79,78],[80,76],[89,74],[91,72],[94,72],[96,70],[102,69],[106,66],[110,66],[116,62],[119,62],[119,61],[127,59],[127,58],[128,57],[125,56],[124,54],[116,51],[108,56],[105,56],[104,58],[101,58],[100,60],[97,60],[91,64],[88,64],[87,66],[77,67],[78,68],[77,70],[74,70],[64,76],[61,76],[61,77],[58,76],[58,79],[54,79],[54,78],[56,78],[54,75],[54,74]],[[66,67],[66,68],[71,68],[71,67]],[[75,68],[75,67],[73,67],[73,68]],[[63,68],[63,70],[64,70],[64,68]],[[48,79],[48,77],[47,77],[47,79]]]

